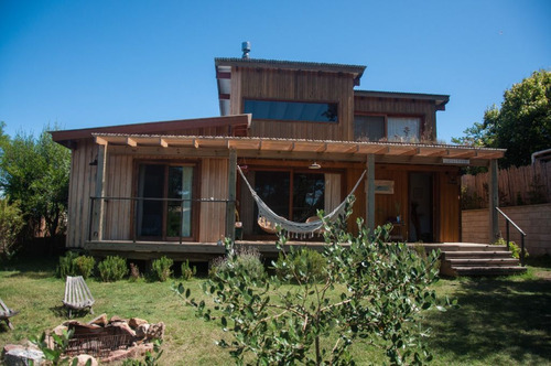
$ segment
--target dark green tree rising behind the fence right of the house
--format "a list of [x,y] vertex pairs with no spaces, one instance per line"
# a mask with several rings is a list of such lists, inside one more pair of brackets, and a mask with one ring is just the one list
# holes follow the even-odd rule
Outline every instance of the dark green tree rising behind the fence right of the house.
[[551,148],[551,72],[538,71],[504,93],[500,109],[484,112],[484,122],[475,122],[453,138],[460,144],[507,149],[500,166],[528,165],[531,154]]

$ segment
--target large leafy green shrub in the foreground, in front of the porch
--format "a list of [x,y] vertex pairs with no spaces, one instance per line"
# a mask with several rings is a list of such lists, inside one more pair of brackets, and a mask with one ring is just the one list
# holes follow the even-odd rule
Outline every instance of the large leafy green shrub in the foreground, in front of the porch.
[[324,222],[323,276],[298,258],[303,251],[287,252],[280,233],[281,256],[272,266],[287,272],[283,280],[250,276],[227,241],[227,270],[203,286],[214,309],[191,299],[182,283],[174,290],[198,316],[219,320],[233,334],[218,345],[238,364],[252,353],[260,365],[354,365],[348,348],[356,342],[383,348],[392,364],[430,360],[420,340],[426,331],[418,321],[437,303],[429,286],[436,281],[439,255],[423,259],[406,244],[389,244],[389,227],[369,233],[361,220],[354,236],[346,230],[350,213],[336,224]]

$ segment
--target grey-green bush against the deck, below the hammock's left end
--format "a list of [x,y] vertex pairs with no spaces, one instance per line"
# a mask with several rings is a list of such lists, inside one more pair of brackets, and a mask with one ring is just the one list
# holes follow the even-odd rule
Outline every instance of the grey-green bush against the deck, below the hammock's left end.
[[213,260],[208,276],[217,277],[223,272],[231,271],[231,266],[236,266],[235,270],[242,271],[250,278],[251,281],[259,281],[266,278],[264,265],[260,260],[260,252],[255,248],[237,247],[235,249],[236,261],[231,262],[227,258],[219,257]]

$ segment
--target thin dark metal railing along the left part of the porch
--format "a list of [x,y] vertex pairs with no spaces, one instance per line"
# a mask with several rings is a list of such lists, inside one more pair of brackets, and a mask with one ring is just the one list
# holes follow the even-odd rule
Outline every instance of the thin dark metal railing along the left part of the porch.
[[[219,198],[214,198],[214,197],[210,197],[210,198],[153,198],[153,197],[107,197],[107,196],[102,196],[102,197],[94,197],[91,196],[90,197],[90,212],[89,212],[89,222],[88,222],[88,240],[91,240],[95,233],[94,229],[93,229],[93,226],[94,226],[94,209],[95,209],[95,204],[96,202],[104,202],[105,204],[108,204],[110,201],[129,201],[131,202],[134,206],[133,206],[133,228],[132,228],[132,238],[131,240],[133,243],[137,241],[137,239],[140,237],[140,235],[138,234],[138,215],[139,213],[141,212],[140,208],[139,208],[139,205],[140,203],[143,203],[145,201],[156,201],[156,202],[173,202],[173,203],[180,203],[180,225],[179,225],[179,241],[180,244],[182,244],[183,241],[183,233],[182,233],[182,227],[183,227],[183,220],[184,220],[184,215],[183,215],[183,211],[184,211],[184,203],[224,203],[225,206],[227,206],[231,201],[229,200],[219,200]],[[106,218],[106,211],[104,209],[104,215],[102,217],[99,217],[98,219],[100,220],[105,220]],[[128,218],[130,219],[130,218]],[[98,237],[97,240],[101,241],[104,240],[102,237]]]

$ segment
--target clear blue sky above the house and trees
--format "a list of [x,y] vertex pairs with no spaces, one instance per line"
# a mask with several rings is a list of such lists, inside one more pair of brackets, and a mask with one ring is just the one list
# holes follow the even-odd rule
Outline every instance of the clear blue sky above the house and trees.
[[218,116],[215,57],[366,65],[359,89],[446,94],[450,141],[551,68],[551,1],[0,0],[6,132]]

